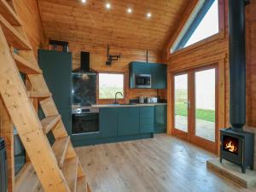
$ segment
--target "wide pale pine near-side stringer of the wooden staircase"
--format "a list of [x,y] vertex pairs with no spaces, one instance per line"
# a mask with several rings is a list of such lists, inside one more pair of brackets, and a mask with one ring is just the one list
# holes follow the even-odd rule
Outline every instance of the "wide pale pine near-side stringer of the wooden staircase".
[[[70,192],[0,27],[0,93],[46,191]],[[50,176],[50,177],[49,177]]]

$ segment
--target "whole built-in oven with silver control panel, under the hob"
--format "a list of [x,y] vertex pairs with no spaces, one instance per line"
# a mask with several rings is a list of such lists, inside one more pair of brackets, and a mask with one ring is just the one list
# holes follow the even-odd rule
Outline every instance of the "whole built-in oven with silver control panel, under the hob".
[[73,108],[72,134],[90,134],[99,132],[99,108]]

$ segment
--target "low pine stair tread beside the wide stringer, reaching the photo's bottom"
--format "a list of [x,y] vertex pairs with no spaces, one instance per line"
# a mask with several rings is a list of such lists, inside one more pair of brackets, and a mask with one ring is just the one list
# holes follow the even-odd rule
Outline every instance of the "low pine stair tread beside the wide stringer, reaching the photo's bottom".
[[76,192],[78,181],[78,157],[65,160],[62,172],[71,192]]

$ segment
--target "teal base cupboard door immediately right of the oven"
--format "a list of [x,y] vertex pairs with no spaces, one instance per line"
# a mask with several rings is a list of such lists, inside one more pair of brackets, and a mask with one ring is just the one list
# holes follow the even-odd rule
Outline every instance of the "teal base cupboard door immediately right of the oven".
[[117,137],[119,108],[100,108],[100,137]]

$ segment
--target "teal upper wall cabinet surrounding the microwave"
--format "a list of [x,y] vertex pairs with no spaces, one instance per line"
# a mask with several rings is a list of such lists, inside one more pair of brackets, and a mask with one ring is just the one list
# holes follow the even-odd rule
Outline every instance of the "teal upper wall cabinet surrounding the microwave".
[[[167,72],[166,65],[159,63],[131,62],[130,68],[130,89],[136,89],[137,75],[151,75],[151,89],[166,89]],[[148,88],[148,87],[147,87]]]

